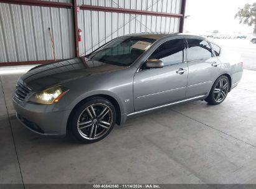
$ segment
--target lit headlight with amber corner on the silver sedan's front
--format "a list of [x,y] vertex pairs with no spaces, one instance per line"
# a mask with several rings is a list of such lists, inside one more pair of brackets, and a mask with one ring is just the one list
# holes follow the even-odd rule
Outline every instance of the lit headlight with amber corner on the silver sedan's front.
[[31,96],[29,101],[39,104],[53,104],[57,103],[65,93],[67,93],[69,89],[64,86],[54,86],[48,88],[47,90],[41,91],[39,93]]

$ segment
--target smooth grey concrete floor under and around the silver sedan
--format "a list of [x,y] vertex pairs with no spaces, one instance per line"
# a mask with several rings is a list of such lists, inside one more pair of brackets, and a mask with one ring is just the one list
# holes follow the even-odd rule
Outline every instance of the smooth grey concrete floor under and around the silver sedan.
[[19,75],[0,85],[0,183],[256,183],[256,71],[224,103],[130,119],[103,141],[43,137],[15,118]]

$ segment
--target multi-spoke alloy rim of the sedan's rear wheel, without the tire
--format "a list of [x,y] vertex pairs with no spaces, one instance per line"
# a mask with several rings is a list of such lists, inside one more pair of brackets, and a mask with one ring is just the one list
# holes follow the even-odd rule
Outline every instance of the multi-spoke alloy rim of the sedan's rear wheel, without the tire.
[[217,103],[223,101],[229,89],[229,81],[226,78],[222,78],[217,83],[214,89],[214,99]]

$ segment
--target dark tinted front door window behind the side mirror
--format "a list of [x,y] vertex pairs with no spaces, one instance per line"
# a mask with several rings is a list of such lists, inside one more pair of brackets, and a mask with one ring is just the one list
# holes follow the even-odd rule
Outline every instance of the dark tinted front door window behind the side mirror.
[[164,65],[183,62],[184,40],[173,39],[160,45],[149,57],[161,60]]

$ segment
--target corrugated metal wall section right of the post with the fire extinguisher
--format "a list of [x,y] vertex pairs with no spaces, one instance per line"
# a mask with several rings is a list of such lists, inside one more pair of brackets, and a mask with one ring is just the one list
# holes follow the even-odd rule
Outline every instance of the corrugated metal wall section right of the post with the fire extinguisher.
[[[181,0],[80,0],[82,4],[143,11],[181,14]],[[115,37],[138,32],[179,32],[176,17],[148,16],[116,12],[78,12],[78,27],[82,29],[80,55],[90,53]]]

